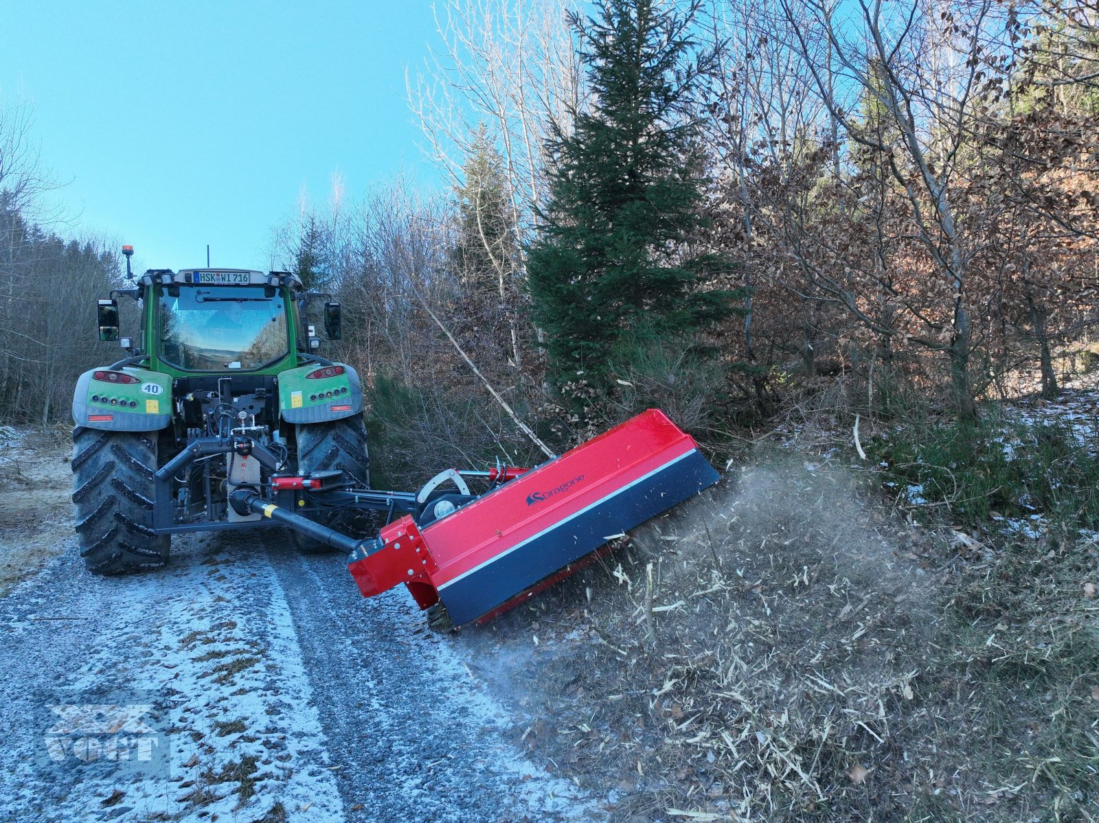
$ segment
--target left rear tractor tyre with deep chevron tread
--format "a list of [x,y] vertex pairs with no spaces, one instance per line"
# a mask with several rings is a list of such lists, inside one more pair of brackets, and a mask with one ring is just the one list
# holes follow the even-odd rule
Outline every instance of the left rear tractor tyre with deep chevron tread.
[[155,432],[73,430],[73,503],[88,570],[121,575],[168,561],[171,537],[153,534]]

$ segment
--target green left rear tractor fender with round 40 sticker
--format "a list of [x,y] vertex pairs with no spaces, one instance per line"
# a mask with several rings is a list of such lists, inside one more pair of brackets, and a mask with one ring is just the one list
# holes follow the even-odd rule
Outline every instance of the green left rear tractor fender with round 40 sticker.
[[[97,372],[129,375],[136,381],[97,380]],[[73,421],[108,432],[159,431],[171,422],[171,377],[134,366],[85,371],[73,392]]]

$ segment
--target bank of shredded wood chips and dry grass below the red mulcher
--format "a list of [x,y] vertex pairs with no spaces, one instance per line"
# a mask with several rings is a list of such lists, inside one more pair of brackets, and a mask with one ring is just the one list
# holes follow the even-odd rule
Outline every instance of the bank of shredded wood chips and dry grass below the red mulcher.
[[764,461],[464,642],[617,820],[1088,820],[1096,601],[1047,596],[1079,547],[943,535]]

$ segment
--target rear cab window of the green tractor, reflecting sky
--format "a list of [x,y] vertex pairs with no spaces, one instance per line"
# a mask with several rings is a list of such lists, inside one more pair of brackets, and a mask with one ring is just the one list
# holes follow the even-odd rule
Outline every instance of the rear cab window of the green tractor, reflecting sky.
[[[177,291],[171,289],[171,291]],[[160,292],[160,356],[196,371],[256,369],[289,351],[281,296],[245,286]]]

